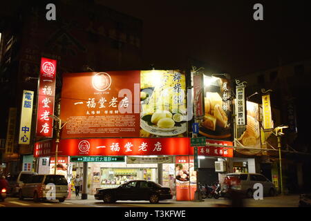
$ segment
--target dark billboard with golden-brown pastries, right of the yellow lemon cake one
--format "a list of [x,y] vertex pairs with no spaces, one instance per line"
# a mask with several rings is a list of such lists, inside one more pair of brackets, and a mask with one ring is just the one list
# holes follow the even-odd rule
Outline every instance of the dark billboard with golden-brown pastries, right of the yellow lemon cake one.
[[230,86],[227,79],[203,76],[205,115],[200,135],[214,140],[232,140]]

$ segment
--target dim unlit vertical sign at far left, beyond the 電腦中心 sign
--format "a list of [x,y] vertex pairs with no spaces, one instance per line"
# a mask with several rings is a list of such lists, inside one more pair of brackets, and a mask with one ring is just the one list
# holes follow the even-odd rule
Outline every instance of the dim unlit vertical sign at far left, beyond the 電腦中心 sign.
[[10,108],[8,117],[8,131],[6,133],[6,154],[12,154],[14,150],[16,115],[17,108]]

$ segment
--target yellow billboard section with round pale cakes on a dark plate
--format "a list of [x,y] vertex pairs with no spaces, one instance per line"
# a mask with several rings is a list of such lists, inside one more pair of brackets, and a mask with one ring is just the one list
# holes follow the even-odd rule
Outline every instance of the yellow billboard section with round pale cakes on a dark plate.
[[140,72],[140,137],[187,137],[185,73],[180,70]]

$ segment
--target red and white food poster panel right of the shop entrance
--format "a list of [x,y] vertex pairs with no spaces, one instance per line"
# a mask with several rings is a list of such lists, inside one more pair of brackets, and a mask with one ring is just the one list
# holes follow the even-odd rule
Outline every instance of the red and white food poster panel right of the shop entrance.
[[196,171],[193,156],[176,156],[176,200],[194,200]]

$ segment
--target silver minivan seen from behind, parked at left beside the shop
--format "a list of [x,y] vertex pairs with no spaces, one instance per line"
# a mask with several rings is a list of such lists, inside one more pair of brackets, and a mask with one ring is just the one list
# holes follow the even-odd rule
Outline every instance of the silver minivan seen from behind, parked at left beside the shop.
[[[50,194],[54,191],[51,184],[55,185],[55,195]],[[19,189],[20,200],[33,198],[35,202],[39,202],[40,200],[50,200],[53,197],[53,200],[64,202],[67,196],[68,182],[64,175],[33,175]]]

